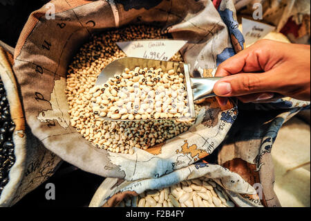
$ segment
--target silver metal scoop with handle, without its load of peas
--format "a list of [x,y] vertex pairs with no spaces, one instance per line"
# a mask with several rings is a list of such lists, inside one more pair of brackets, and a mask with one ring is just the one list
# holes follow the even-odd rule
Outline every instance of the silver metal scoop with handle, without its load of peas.
[[[106,83],[109,78],[113,78],[113,76],[117,74],[123,73],[124,69],[135,69],[135,67],[148,67],[148,68],[161,68],[162,71],[169,71],[170,69],[174,69],[175,71],[180,68],[181,73],[184,73],[184,84],[186,85],[187,91],[187,106],[189,107],[189,118],[196,118],[196,112],[194,110],[194,101],[200,100],[202,98],[209,98],[212,96],[216,96],[213,92],[213,87],[215,83],[220,78],[190,78],[189,76],[189,64],[184,64],[181,62],[165,62],[161,60],[150,60],[144,58],[120,58],[108,64],[100,73],[95,83],[95,86],[100,86]],[[95,104],[94,104],[95,105]],[[123,119],[112,119],[107,116],[102,117],[106,121],[142,121],[142,120],[123,120]],[[153,119],[147,119],[144,121],[149,121]]]

